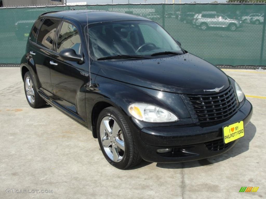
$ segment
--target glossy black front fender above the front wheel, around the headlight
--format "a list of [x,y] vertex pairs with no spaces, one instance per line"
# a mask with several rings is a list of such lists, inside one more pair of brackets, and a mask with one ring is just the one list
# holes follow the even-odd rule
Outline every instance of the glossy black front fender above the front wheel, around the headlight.
[[[94,85],[97,86],[87,89],[86,92],[86,111],[89,128],[95,125],[93,124],[92,112],[93,107],[99,102],[106,102],[117,108],[128,122],[135,123],[139,129],[147,126],[163,126],[165,123],[141,122],[132,118],[127,108],[133,102],[145,102],[169,110],[181,119],[178,122],[179,125],[191,123],[190,114],[179,94],[143,88],[102,76],[96,77]],[[176,124],[177,122],[167,123],[168,126]]]

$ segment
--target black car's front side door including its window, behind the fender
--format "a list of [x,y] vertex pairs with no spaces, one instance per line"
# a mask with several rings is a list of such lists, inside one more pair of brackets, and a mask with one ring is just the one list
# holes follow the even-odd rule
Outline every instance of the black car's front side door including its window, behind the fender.
[[63,49],[74,49],[76,54],[83,56],[82,47],[85,42],[81,42],[81,26],[69,21],[62,21],[57,33],[57,44],[52,53],[51,61],[51,81],[54,92],[54,101],[63,110],[74,116],[79,122],[85,124],[85,90],[84,86],[89,82],[88,63],[78,63],[67,61],[59,56]]

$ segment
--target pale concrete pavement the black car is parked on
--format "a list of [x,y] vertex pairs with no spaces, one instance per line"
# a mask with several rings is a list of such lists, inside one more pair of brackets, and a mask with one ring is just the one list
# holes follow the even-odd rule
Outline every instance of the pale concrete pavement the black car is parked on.
[[[266,96],[266,71],[225,70],[246,95]],[[32,109],[19,68],[0,68],[0,198],[266,198],[266,99],[225,154],[185,163],[143,161],[118,170],[91,132],[51,106]],[[259,187],[239,193],[241,187]],[[7,193],[6,189],[53,190]]]

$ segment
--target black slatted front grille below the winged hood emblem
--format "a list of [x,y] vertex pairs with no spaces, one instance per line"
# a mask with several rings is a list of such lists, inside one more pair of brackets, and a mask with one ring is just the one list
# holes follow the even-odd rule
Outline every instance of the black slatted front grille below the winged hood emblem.
[[181,95],[195,123],[230,118],[238,107],[232,85],[225,91],[209,95]]

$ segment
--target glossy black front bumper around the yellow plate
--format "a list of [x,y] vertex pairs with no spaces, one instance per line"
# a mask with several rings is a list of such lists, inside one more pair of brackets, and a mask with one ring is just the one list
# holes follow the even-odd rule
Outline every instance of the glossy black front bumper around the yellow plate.
[[[241,120],[246,126],[251,119],[252,111],[252,105],[246,99],[238,112],[223,123],[213,126],[201,123],[145,127],[135,134],[134,139],[140,155],[149,162],[186,162],[204,159],[231,149],[238,140],[224,144],[222,127]],[[171,152],[156,152],[157,149],[165,148],[171,149]]]

